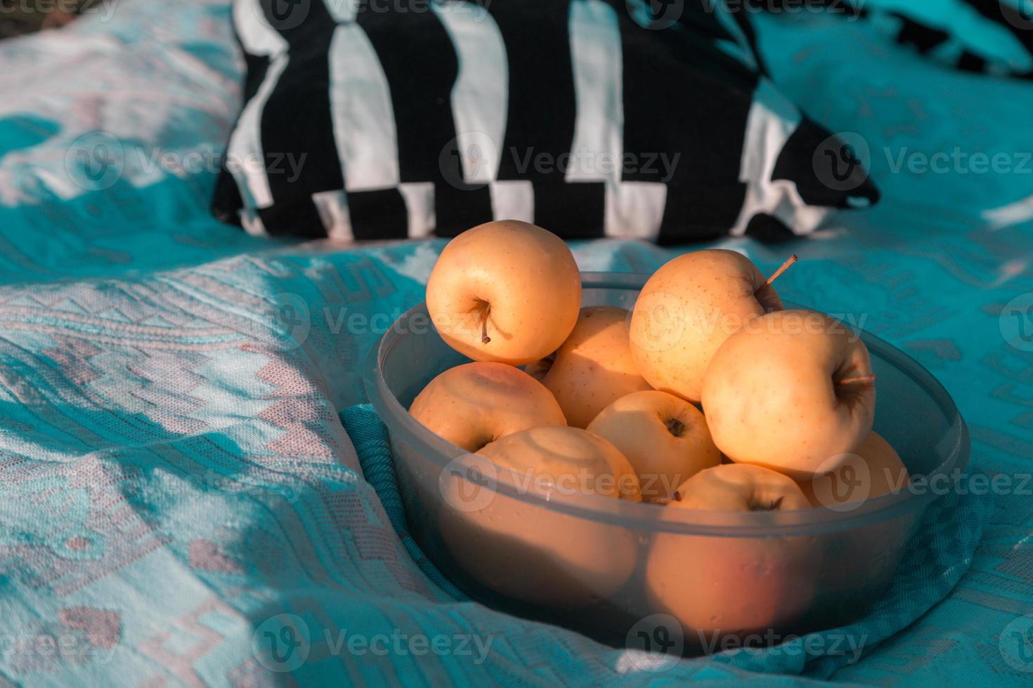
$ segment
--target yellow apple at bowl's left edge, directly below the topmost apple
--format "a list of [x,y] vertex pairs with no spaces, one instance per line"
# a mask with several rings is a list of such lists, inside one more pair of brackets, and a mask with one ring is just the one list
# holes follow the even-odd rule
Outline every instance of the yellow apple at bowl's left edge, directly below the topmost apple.
[[527,428],[566,425],[560,404],[541,383],[511,365],[486,361],[439,374],[413,399],[409,413],[468,452]]

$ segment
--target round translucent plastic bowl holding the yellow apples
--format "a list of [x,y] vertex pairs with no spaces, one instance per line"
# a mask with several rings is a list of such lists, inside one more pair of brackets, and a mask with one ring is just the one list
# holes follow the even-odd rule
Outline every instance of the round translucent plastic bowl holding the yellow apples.
[[[631,308],[648,276],[583,273],[583,304]],[[878,375],[875,429],[912,481],[963,468],[968,430],[947,392],[910,357],[871,334],[862,337]],[[613,645],[628,642],[644,620],[674,618],[686,652],[698,651],[707,624],[694,619],[714,600],[733,600],[751,615],[747,629],[717,609],[711,620],[722,633],[802,633],[849,623],[884,592],[936,497],[903,490],[848,510],[776,513],[545,497],[409,415],[427,383],[467,360],[434,331],[426,304],[403,315],[368,360],[366,391],[390,435],[412,535],[471,597]]]

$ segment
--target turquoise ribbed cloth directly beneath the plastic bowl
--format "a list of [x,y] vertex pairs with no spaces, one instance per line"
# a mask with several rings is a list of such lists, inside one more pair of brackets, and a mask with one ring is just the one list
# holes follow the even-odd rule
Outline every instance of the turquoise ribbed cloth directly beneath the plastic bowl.
[[[372,406],[362,404],[345,409],[340,416],[355,446],[366,480],[383,502],[384,511],[406,551],[419,569],[442,590],[457,599],[466,599],[427,559],[408,532],[389,437],[376,412]],[[744,671],[827,679],[846,664],[864,662],[864,655],[906,628],[947,595],[968,570],[992,505],[991,495],[970,492],[950,492],[933,503],[912,538],[889,590],[866,617],[853,624],[793,637],[775,647],[737,648],[677,662],[657,658],[651,660],[631,650],[625,653],[624,660],[614,659],[613,668],[619,674],[639,675],[639,678],[643,678],[641,673],[660,670],[662,673],[656,675],[658,679],[679,677],[741,681],[749,676]],[[566,633],[570,631],[556,629],[557,635]],[[599,651],[606,652],[601,648]],[[558,646],[556,654],[562,653]]]

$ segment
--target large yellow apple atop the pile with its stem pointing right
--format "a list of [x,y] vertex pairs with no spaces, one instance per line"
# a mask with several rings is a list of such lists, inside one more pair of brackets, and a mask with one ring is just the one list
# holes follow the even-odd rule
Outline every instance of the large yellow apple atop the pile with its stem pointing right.
[[875,418],[865,343],[813,310],[756,318],[714,355],[702,406],[714,443],[733,461],[810,480],[839,467]]

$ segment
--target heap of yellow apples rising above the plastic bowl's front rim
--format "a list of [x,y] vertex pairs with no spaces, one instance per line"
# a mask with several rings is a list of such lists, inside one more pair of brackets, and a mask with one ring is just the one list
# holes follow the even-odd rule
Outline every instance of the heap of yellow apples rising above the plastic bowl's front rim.
[[688,253],[630,313],[583,308],[562,239],[514,221],[470,229],[442,251],[427,306],[474,362],[435,378],[410,413],[502,468],[547,478],[546,489],[578,476],[567,485],[658,509],[829,506],[836,496],[818,498],[814,481],[858,456],[863,496],[884,494],[883,477],[905,469],[872,431],[868,351],[839,321],[783,308],[772,282],[792,260],[768,279],[732,251]]

